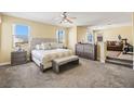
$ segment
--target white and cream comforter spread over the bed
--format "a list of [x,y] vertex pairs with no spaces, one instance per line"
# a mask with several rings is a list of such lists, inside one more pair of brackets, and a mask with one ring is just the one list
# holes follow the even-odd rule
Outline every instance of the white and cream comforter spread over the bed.
[[32,50],[31,54],[40,62],[46,63],[57,58],[72,55],[72,51],[69,49]]

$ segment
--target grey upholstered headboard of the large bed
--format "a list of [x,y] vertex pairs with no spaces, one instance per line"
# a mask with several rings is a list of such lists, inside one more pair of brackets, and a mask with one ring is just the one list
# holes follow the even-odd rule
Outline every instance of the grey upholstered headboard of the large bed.
[[41,45],[42,42],[57,42],[56,38],[32,38],[30,41],[30,50],[32,50],[36,45]]

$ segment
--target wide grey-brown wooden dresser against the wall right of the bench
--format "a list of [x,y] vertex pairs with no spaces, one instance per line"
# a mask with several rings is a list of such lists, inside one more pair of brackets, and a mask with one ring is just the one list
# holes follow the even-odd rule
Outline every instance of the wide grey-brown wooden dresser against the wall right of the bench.
[[80,58],[96,60],[96,46],[92,43],[77,43],[76,54]]

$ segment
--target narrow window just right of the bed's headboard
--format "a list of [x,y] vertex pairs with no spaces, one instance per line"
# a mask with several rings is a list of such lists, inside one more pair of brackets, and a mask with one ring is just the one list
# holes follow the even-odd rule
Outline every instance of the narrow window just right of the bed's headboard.
[[65,40],[65,30],[58,29],[56,31],[56,38],[57,38],[57,42],[58,43],[64,43],[64,40]]

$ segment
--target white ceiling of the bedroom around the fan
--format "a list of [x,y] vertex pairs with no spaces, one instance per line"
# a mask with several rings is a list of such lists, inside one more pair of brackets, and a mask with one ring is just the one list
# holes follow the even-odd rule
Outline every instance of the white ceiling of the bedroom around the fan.
[[59,24],[62,12],[3,12],[5,15],[31,20],[52,25],[70,27],[77,26],[105,26],[115,24],[131,24],[131,12],[68,12],[68,16],[77,17],[73,24]]

